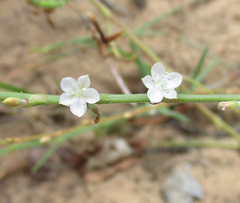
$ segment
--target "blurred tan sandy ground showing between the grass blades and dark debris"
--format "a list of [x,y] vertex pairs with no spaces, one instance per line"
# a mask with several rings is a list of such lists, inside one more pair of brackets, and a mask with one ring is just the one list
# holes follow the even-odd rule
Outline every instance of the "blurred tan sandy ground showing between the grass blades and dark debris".
[[[118,3],[126,9],[126,14],[116,15],[134,30],[168,9],[186,2],[188,1],[148,1],[147,6],[139,10],[132,2],[124,0]],[[108,64],[97,49],[84,49],[61,60],[38,65],[49,55],[33,53],[33,48],[90,35],[81,18],[86,12],[92,12],[103,30],[106,30],[106,21],[90,2],[76,0],[70,4],[71,7],[59,8],[52,13],[51,19],[56,26],[53,29],[44,13],[34,15],[35,8],[25,1],[0,1],[0,82],[25,87],[35,93],[60,94],[61,91],[54,81],[59,82],[66,76],[76,78],[89,74],[92,80],[91,86],[97,87],[100,93],[121,93]],[[207,84],[212,84],[239,67],[239,7],[240,2],[237,0],[207,0],[195,6],[187,6],[153,26],[154,30],[164,32],[164,36],[140,38],[171,68],[188,75],[192,73],[201,52],[184,43],[183,38],[203,47],[209,46],[212,54],[222,57],[230,64],[228,67],[222,63],[217,65],[206,79]],[[119,31],[117,26],[113,29]],[[130,50],[126,38],[118,39],[117,44]],[[78,48],[78,46],[69,46],[65,50],[76,51]],[[153,64],[149,59],[146,60]],[[206,65],[211,61],[212,59],[208,57]],[[142,89],[141,75],[135,64],[123,63],[116,59],[112,59],[112,63],[118,68],[132,92],[136,93]],[[234,89],[239,84],[240,82],[235,80],[221,88]],[[216,106],[212,105],[212,107],[216,109]],[[130,105],[102,105],[101,111],[105,114],[114,114],[130,108],[132,108]],[[80,123],[80,120],[73,117],[67,108],[56,109],[55,106],[9,110],[0,105],[0,111],[3,112],[0,117],[1,138],[54,132]],[[219,132],[194,107],[190,107],[187,113],[191,118],[189,126],[197,130],[205,130],[200,132],[200,135],[181,132],[170,123],[132,130],[132,136],[158,141],[188,138],[215,138],[223,141],[229,139],[228,135]],[[52,117],[59,114],[64,115],[61,122]],[[236,115],[219,111],[218,114],[231,125],[238,125],[239,119]],[[89,115],[84,116],[84,118],[88,117]],[[68,143],[68,146],[71,144]],[[31,151],[20,151],[0,157],[0,172],[18,161],[25,160],[29,153]],[[51,171],[53,175],[42,182],[37,182],[24,169],[20,169],[0,180],[0,202],[164,202],[161,194],[164,180],[173,168],[184,163],[190,164],[190,173],[203,187],[205,196],[200,202],[240,202],[239,153],[224,149],[191,149],[183,154],[145,152],[132,167],[97,183],[83,182],[75,170],[64,164],[55,166],[56,170]]]

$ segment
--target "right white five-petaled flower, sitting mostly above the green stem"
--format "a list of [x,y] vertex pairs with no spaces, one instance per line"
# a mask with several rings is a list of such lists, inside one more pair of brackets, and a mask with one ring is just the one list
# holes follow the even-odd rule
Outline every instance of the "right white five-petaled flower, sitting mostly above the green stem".
[[179,73],[168,73],[159,62],[153,65],[151,74],[142,78],[143,84],[149,89],[147,96],[151,103],[159,103],[163,97],[168,99],[177,98],[174,88],[182,83],[182,75]]

